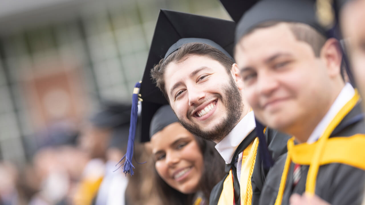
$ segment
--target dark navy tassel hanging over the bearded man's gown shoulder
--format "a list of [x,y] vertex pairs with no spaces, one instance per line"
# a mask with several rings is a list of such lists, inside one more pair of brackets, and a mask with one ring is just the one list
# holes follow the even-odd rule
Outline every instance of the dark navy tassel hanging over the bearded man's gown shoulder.
[[265,170],[269,170],[271,166],[273,166],[274,162],[271,157],[271,154],[268,149],[268,145],[265,139],[265,128],[258,120],[256,120],[256,134],[259,140],[258,146],[260,148],[260,155],[262,160],[262,165],[264,166]]

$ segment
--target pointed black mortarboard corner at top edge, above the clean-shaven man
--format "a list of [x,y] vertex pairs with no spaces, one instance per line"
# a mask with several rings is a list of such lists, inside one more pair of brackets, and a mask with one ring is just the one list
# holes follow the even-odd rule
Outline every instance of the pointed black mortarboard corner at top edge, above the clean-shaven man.
[[250,9],[258,0],[219,0],[231,18],[238,22],[243,13]]

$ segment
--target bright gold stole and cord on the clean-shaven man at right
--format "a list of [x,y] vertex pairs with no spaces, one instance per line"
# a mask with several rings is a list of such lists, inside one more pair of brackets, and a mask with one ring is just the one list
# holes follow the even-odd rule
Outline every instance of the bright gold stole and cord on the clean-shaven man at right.
[[315,194],[319,166],[329,163],[342,163],[365,170],[364,134],[329,138],[342,119],[355,107],[359,99],[360,96],[356,90],[355,95],[341,108],[334,119],[332,119],[317,142],[294,145],[294,138],[288,140],[288,156],[285,160],[275,205],[281,205],[281,201],[283,200],[285,183],[291,162],[300,165],[309,165],[306,192],[310,194]]

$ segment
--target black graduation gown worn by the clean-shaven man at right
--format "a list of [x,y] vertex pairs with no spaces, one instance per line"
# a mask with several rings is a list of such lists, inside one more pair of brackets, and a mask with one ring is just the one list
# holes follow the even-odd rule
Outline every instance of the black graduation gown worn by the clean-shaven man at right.
[[[365,123],[359,104],[355,105],[343,118],[330,138],[350,137],[355,134],[365,134]],[[286,158],[287,154],[280,156],[266,176],[260,205],[275,204]],[[301,166],[300,180],[293,188],[294,164],[290,164],[282,205],[289,204],[289,198],[293,193],[303,194],[305,192],[308,169],[309,166]],[[329,163],[318,169],[315,194],[331,205],[360,205],[364,198],[364,182],[364,170],[342,163]]]

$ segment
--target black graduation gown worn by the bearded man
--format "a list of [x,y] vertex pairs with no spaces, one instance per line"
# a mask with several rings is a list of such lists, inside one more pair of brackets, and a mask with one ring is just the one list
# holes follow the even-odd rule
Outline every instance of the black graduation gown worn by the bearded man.
[[[209,199],[210,205],[216,205],[218,204],[220,195],[223,190],[223,183],[224,180],[228,177],[228,173],[230,169],[232,168],[232,174],[233,174],[233,181],[234,181],[234,196],[235,196],[235,204],[240,205],[241,199],[240,199],[240,185],[238,183],[238,177],[237,177],[237,160],[238,155],[245,150],[246,147],[248,147],[251,142],[253,142],[256,138],[256,131],[252,131],[245,139],[242,140],[241,144],[237,147],[237,150],[235,151],[233,155],[232,162],[228,165],[226,165],[226,175],[224,178],[214,186]],[[283,134],[281,132],[278,132],[276,130],[267,128],[265,131],[265,138],[266,142],[268,143],[268,149],[270,154],[272,155],[274,161],[282,154],[287,152],[287,141],[290,138],[288,135]],[[262,187],[264,185],[264,181],[266,178],[267,170],[264,169],[262,166],[262,160],[260,159],[260,146],[257,150],[254,170],[251,176],[251,183],[252,183],[252,204],[258,204],[258,199],[260,197],[260,193],[262,190]],[[243,185],[241,185],[243,186]],[[246,186],[246,185],[244,185]]]

